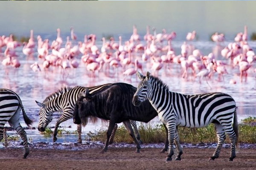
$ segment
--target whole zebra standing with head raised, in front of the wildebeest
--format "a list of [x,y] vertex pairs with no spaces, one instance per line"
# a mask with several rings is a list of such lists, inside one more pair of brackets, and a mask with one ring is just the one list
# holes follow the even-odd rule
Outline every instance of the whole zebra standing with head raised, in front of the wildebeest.
[[206,127],[209,123],[215,125],[218,137],[218,145],[210,159],[218,158],[226,132],[231,141],[229,160],[233,161],[236,157],[236,147],[238,147],[238,122],[236,103],[230,95],[218,92],[195,95],[179,94],[169,91],[167,85],[159,78],[150,76],[149,72],[146,76],[137,72],[137,76],[141,82],[134,94],[133,104],[139,106],[141,102],[149,99],[157,110],[160,121],[166,125],[169,140],[166,161],[172,160],[174,144],[177,149],[175,160],[181,160],[182,150],[177,126]]

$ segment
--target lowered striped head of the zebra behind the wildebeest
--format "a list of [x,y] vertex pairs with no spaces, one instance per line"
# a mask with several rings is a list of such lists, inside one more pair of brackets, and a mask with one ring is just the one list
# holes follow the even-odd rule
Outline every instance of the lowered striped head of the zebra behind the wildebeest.
[[38,101],[35,101],[39,107],[41,107],[39,111],[39,124],[38,124],[38,130],[40,132],[44,132],[47,125],[52,122],[52,113],[48,113],[46,111],[46,105],[43,103],[40,103]]

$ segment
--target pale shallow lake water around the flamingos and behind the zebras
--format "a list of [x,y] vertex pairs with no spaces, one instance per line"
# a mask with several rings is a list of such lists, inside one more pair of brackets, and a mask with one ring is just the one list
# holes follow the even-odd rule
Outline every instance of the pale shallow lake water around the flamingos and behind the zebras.
[[[67,37],[69,34],[62,33],[62,37]],[[49,44],[51,44],[52,40],[55,39],[56,35],[41,35],[41,37],[48,38]],[[82,35],[79,41],[82,40]],[[128,40],[128,35],[123,35],[123,42]],[[143,35],[141,35],[143,37]],[[118,38],[115,38],[117,40]],[[208,55],[210,52],[215,54],[216,59],[221,59],[227,62],[227,72],[225,74],[225,80],[218,82],[217,81],[217,73],[213,74],[213,77],[209,80],[209,84],[211,88],[207,85],[205,79],[202,79],[202,84],[199,84],[198,78],[192,79],[191,72],[189,71],[189,78],[183,79],[181,78],[181,71],[180,65],[176,65],[172,63],[169,69],[162,68],[159,73],[158,77],[163,80],[168,86],[170,91],[175,91],[183,94],[198,94],[198,93],[205,93],[205,92],[212,92],[212,91],[220,91],[227,94],[230,94],[236,101],[236,105],[238,107],[238,119],[239,122],[241,119],[247,118],[248,116],[255,116],[256,115],[256,87],[255,87],[255,73],[253,73],[253,69],[256,68],[256,64],[253,63],[252,67],[248,70],[248,77],[247,82],[240,82],[239,78],[239,68],[232,68],[229,64],[229,60],[221,57],[220,51],[230,41],[225,41],[220,45],[216,45],[215,42],[210,41],[194,41],[190,42],[194,45],[195,48],[200,49],[204,55]],[[65,41],[64,41],[65,43]],[[73,45],[77,45],[78,41],[72,42]],[[145,42],[142,41],[145,44]],[[164,42],[166,43],[166,42]],[[249,45],[256,50],[256,42],[249,41]],[[37,43],[36,43],[37,44]],[[183,44],[183,41],[173,41],[172,46],[175,50],[175,54],[180,54],[180,46]],[[96,45],[100,49],[102,46],[102,41],[98,38]],[[63,45],[64,46],[64,45]],[[59,68],[52,68],[51,71],[41,71],[41,72],[33,72],[30,68],[30,65],[34,62],[38,62],[39,65],[42,65],[43,60],[37,58],[37,48],[35,47],[35,52],[33,54],[33,59],[28,59],[22,53],[22,47],[16,48],[16,54],[18,55],[18,59],[20,60],[20,68],[12,68],[9,66],[0,65],[0,87],[1,88],[8,88],[15,91],[21,98],[23,102],[23,106],[26,110],[27,115],[33,119],[35,122],[33,127],[34,130],[26,130],[27,136],[30,142],[52,142],[52,136],[44,136],[39,133],[37,130],[38,126],[38,112],[39,107],[36,105],[35,100],[39,102],[43,102],[43,100],[49,95],[55,92],[56,90],[60,89],[63,86],[94,86],[94,85],[101,85],[105,83],[113,83],[113,82],[126,82],[131,85],[137,86],[139,79],[133,75],[132,77],[126,77],[124,79],[122,75],[122,69],[119,71],[111,70],[110,73],[104,71],[96,72],[96,77],[92,77],[91,73],[88,72],[85,68],[85,65],[81,63],[80,59],[82,54],[77,56],[79,61],[79,67],[76,69],[70,68],[67,70],[67,77],[63,78],[61,76],[61,70]],[[2,48],[2,52],[5,48]],[[143,52],[139,53],[132,53],[133,57],[137,57],[140,62],[141,55]],[[0,61],[4,59],[3,53],[0,55]],[[144,71],[151,71],[151,66],[148,63],[143,63],[143,70]],[[230,84],[230,79],[235,79],[236,84]],[[54,127],[56,119],[60,116],[61,113],[56,112],[53,114],[53,120],[49,124],[49,127]],[[21,125],[26,127],[23,118],[20,119]],[[160,121],[156,117],[150,123],[159,124]],[[122,124],[120,124],[122,125]],[[140,123],[138,123],[140,125]],[[6,126],[9,126],[6,124]],[[69,119],[66,122],[61,123],[61,127],[59,129],[66,130],[68,132],[73,132],[76,130],[76,125],[73,124],[73,119]],[[100,129],[106,129],[108,125],[102,124],[101,121],[97,122],[96,124],[89,123],[86,127],[82,127],[82,139],[83,142],[87,136],[87,133],[92,132],[95,133]],[[15,131],[8,131],[9,135],[17,135]],[[66,143],[66,142],[76,142],[78,136],[74,134],[62,134],[61,136],[58,135],[57,142]]]

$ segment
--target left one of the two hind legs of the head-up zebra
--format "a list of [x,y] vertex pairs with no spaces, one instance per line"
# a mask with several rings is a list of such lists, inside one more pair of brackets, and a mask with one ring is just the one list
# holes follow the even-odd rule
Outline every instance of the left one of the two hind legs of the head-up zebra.
[[214,123],[214,125],[215,125],[216,134],[217,134],[217,138],[218,138],[218,144],[217,144],[217,147],[215,149],[215,152],[209,158],[209,160],[214,160],[214,159],[218,158],[221,147],[222,147],[222,144],[224,143],[224,141],[226,139],[225,130],[222,127],[222,125],[219,122]]

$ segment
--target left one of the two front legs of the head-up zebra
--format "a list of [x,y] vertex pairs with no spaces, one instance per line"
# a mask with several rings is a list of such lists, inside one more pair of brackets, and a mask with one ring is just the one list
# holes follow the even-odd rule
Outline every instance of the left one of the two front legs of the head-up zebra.
[[167,129],[168,129],[169,151],[168,151],[166,161],[172,161],[172,156],[174,155],[174,137],[175,137],[175,131],[176,131],[175,123],[173,122],[169,123],[169,125],[167,125]]

